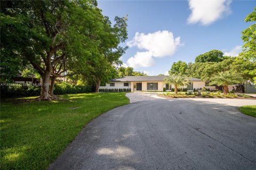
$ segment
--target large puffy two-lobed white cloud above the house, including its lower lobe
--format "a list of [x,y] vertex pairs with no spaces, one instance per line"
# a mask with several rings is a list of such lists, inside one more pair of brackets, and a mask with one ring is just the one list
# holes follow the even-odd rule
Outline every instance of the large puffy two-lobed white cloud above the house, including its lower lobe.
[[137,52],[133,57],[129,58],[127,65],[149,67],[154,64],[154,57],[173,55],[181,43],[180,37],[174,38],[172,32],[164,30],[148,34],[136,32],[127,45],[146,50],[146,52]]

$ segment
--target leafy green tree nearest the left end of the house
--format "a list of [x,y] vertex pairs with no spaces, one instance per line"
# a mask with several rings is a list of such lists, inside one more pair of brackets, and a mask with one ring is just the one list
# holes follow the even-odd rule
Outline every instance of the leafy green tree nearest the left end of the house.
[[95,91],[99,92],[101,81],[108,82],[116,77],[115,65],[121,65],[120,57],[125,53],[127,47],[119,46],[127,39],[127,16],[115,17],[115,24],[112,27],[107,17],[102,19],[103,30],[98,33],[98,42],[93,47],[89,62],[78,60],[74,66],[84,77],[93,80]]

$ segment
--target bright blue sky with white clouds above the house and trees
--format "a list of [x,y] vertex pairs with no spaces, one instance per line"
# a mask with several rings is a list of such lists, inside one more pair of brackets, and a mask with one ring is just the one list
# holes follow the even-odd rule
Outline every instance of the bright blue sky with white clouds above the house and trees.
[[252,24],[244,18],[255,5],[256,1],[230,0],[98,1],[111,21],[128,15],[124,45],[129,49],[122,61],[148,75],[164,74],[179,60],[194,62],[212,49],[237,55],[243,45],[241,31]]

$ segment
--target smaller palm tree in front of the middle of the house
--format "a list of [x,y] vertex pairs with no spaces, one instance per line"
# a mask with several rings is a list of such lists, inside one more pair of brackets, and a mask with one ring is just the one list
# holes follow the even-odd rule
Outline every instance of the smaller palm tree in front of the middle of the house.
[[184,75],[169,75],[166,78],[164,78],[164,84],[168,84],[169,89],[171,87],[171,84],[174,85],[174,94],[178,94],[178,87],[186,86],[188,81],[189,79]]

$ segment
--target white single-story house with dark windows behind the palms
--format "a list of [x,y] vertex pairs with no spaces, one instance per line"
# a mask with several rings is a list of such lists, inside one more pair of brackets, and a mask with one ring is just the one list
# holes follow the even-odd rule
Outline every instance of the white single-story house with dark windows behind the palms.
[[[111,79],[106,86],[100,86],[99,89],[131,89],[131,91],[163,91],[169,89],[167,84],[163,84],[166,76],[126,76],[122,78]],[[208,82],[197,78],[189,78],[187,90],[198,88],[215,89],[215,86],[207,86]],[[174,88],[172,85],[171,88]],[[170,89],[171,89],[170,88]]]

